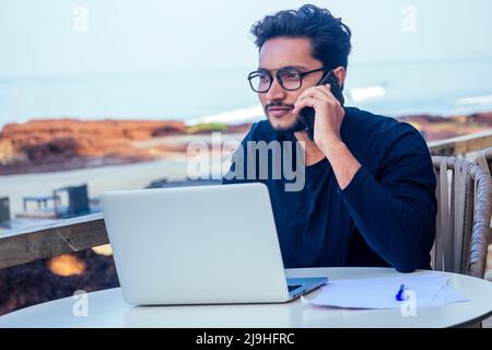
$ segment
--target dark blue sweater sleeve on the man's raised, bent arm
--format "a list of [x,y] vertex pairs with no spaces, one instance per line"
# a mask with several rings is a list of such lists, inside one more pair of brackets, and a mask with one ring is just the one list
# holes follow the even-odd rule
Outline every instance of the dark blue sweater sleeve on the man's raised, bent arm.
[[414,129],[395,140],[377,170],[363,165],[339,195],[368,246],[400,272],[429,258],[435,238],[436,178]]

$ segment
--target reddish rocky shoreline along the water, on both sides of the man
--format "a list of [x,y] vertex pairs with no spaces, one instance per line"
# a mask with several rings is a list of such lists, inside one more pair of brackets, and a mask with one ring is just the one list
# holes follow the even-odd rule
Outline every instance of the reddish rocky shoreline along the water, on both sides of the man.
[[[429,141],[492,128],[492,112],[464,116],[401,116]],[[190,142],[210,144],[212,132],[239,142],[250,122],[187,126],[176,120],[35,119],[5,125],[0,131],[0,177],[189,159]]]

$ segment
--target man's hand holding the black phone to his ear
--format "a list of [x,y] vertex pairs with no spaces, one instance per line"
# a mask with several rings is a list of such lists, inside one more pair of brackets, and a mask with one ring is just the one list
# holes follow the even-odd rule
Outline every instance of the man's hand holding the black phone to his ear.
[[314,141],[325,154],[341,142],[340,128],[345,112],[331,93],[330,84],[306,89],[294,106],[293,114],[298,114],[305,107],[314,108]]

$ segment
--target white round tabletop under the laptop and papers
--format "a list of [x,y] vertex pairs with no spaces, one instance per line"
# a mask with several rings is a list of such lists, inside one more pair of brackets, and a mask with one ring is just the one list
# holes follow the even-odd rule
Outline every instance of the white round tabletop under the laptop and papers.
[[[444,273],[417,271],[419,273]],[[391,277],[389,268],[290,269],[288,277],[328,276],[330,280]],[[127,304],[119,288],[66,298],[26,307],[0,317],[4,327],[187,327],[187,328],[284,328],[284,327],[452,327],[476,324],[492,315],[492,283],[485,280],[446,273],[450,287],[469,302],[418,308],[415,316],[400,310],[343,310],[313,306],[301,299],[284,304],[234,304],[143,306]],[[319,293],[319,289],[306,295]],[[78,304],[79,303],[79,304]]]

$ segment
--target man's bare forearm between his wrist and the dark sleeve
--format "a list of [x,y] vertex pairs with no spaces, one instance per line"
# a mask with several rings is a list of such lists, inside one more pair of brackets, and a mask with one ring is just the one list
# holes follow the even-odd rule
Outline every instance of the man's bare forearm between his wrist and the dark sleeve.
[[338,186],[344,189],[361,168],[361,163],[342,141],[330,142],[321,151],[331,164]]

